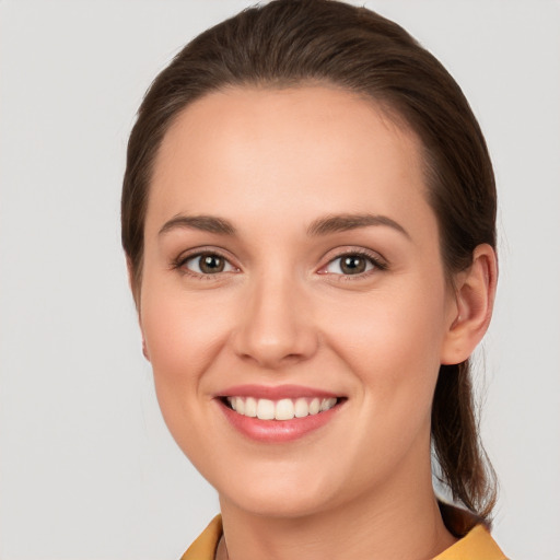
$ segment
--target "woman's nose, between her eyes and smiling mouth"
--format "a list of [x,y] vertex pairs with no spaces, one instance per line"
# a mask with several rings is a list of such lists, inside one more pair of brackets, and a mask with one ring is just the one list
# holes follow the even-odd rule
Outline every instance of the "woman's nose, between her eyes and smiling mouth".
[[312,358],[319,338],[304,290],[279,276],[249,284],[232,337],[236,354],[271,370]]

